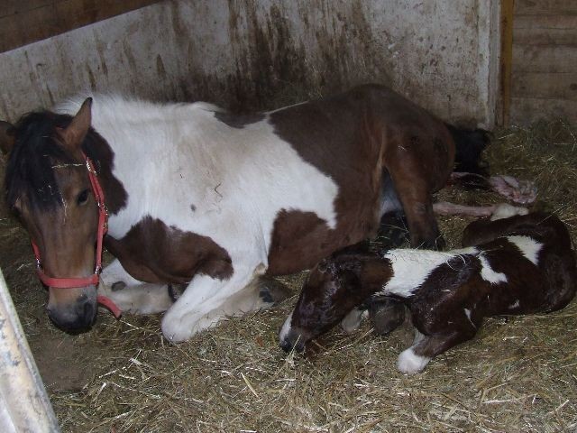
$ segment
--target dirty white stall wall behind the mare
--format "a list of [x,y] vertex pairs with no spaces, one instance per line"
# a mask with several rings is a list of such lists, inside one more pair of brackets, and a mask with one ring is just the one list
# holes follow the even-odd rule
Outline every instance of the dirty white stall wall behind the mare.
[[83,89],[262,109],[375,81],[490,126],[498,0],[175,0],[0,54],[0,118]]

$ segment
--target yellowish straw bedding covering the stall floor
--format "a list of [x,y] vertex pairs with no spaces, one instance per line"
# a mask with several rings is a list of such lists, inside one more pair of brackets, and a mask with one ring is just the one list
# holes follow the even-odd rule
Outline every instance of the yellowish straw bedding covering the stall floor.
[[[535,180],[536,207],[577,234],[577,129],[561,121],[499,131],[487,152],[494,174]],[[499,201],[444,189],[439,199]],[[0,265],[63,431],[577,431],[577,301],[550,315],[490,318],[479,335],[404,376],[395,364],[412,340],[406,324],[374,336],[338,329],[307,357],[280,351],[277,333],[295,297],[169,345],[160,316],[99,315],[87,334],[54,329],[22,228],[0,213]],[[470,218],[443,217],[457,246]]]

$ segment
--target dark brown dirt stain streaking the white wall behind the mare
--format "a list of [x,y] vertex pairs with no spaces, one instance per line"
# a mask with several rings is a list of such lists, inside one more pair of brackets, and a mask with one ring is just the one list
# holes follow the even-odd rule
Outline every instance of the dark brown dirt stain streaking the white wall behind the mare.
[[[327,2],[313,3],[299,4],[300,23],[295,23],[282,5],[262,11],[258,2],[229,0],[227,32],[234,71],[224,77],[206,73],[192,60],[191,77],[180,82],[180,91],[188,99],[249,111],[278,107],[298,97],[318,97],[367,80],[391,84],[390,59],[374,42],[362,2],[351,2],[346,18],[332,12]],[[173,21],[178,16],[175,13]],[[303,32],[295,32],[295,25],[303,25]],[[310,38],[317,47],[312,53],[307,50]]]

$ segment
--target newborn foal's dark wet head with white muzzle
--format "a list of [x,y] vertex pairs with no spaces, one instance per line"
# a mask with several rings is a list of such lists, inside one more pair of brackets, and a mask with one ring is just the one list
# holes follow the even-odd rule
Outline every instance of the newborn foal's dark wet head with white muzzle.
[[286,352],[293,348],[302,352],[309,340],[334,327],[368,299],[380,286],[366,284],[366,272],[371,272],[367,264],[378,260],[371,253],[334,253],[318,263],[280,329],[280,347]]

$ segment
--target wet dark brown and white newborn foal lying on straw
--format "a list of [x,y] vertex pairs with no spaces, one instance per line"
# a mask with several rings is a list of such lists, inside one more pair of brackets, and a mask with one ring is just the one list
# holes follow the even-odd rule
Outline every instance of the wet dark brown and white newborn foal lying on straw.
[[343,318],[345,329],[358,326],[367,299],[375,330],[386,334],[403,322],[407,306],[415,341],[398,357],[398,370],[417,373],[475,336],[485,317],[563,309],[576,282],[571,238],[559,218],[482,219],[465,229],[463,249],[446,253],[334,253],[310,273],[280,346],[302,351]]

